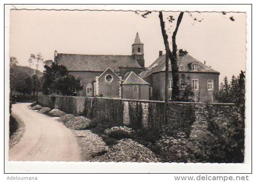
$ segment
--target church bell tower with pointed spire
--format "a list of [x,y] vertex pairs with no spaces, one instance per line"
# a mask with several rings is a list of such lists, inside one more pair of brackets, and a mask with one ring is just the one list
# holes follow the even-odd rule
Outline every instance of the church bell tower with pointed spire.
[[132,56],[138,62],[139,66],[144,68],[144,44],[139,39],[139,33],[137,32],[134,43],[132,44]]

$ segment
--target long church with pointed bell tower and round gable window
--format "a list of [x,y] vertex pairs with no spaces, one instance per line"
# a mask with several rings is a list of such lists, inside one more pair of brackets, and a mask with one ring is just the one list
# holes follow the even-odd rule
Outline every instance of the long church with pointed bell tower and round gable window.
[[54,62],[81,78],[77,96],[149,100],[149,85],[138,76],[145,69],[144,45],[136,34],[132,55],[77,55],[55,51]]

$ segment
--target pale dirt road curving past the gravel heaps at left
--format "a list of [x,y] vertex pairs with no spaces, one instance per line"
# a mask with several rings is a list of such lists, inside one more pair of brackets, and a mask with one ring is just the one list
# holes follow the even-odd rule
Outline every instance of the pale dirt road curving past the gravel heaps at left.
[[80,161],[80,151],[71,130],[53,118],[28,108],[29,103],[12,105],[23,120],[20,141],[9,150],[10,161]]

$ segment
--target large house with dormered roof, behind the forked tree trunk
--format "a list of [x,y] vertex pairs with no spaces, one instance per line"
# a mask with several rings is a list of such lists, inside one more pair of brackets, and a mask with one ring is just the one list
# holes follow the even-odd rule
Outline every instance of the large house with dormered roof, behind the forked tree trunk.
[[[195,102],[214,102],[213,93],[218,91],[219,72],[210,66],[203,64],[188,54],[178,53],[177,64],[179,67],[180,83],[191,85]],[[165,96],[165,70],[166,55],[159,51],[159,57],[140,73],[140,76],[151,84],[149,87],[149,97],[151,100],[164,100]],[[182,76],[183,75],[183,76]],[[184,80],[181,80],[184,79]],[[169,81],[168,95],[171,98],[173,87],[172,68],[169,61]],[[184,84],[180,84],[180,90],[184,89]]]

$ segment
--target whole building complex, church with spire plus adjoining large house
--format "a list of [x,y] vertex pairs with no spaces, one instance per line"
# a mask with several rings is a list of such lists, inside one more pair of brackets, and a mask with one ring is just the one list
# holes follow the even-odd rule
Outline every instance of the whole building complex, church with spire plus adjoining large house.
[[[164,100],[165,55],[145,67],[144,44],[136,34],[131,55],[77,55],[55,51],[54,62],[67,67],[69,73],[81,78],[83,90],[77,96],[101,96],[140,100]],[[191,55],[177,54],[181,82],[191,86],[195,102],[215,102],[213,94],[218,91],[219,72]],[[168,95],[172,95],[172,70],[169,61]]]

